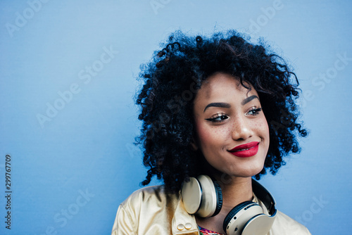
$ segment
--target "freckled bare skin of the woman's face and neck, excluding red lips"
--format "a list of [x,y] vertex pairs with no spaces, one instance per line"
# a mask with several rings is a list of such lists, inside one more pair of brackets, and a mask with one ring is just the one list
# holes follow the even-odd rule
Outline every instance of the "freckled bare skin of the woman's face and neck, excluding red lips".
[[[214,217],[196,216],[199,226],[225,234],[226,215],[234,206],[253,199],[251,177],[263,169],[269,147],[269,129],[255,89],[246,89],[236,77],[216,73],[202,84],[194,100],[196,136],[191,144],[201,150],[208,172],[222,182],[222,209]],[[234,147],[257,143],[258,151],[238,157]],[[226,179],[224,178],[226,176]],[[225,179],[225,180],[224,180]]]

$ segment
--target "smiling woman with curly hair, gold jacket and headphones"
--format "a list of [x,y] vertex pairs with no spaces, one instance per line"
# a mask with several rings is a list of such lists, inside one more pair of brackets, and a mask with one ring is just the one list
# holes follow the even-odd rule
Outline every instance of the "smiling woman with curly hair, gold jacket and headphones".
[[132,193],[113,234],[310,234],[251,178],[297,153],[296,75],[237,32],[172,34],[142,68],[139,143],[163,186]]

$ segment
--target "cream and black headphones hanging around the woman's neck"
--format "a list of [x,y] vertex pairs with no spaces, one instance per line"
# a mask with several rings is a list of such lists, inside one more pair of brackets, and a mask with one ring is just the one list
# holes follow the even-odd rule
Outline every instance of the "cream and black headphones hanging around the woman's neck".
[[[268,209],[270,216],[263,213],[258,203],[244,201],[236,205],[225,217],[222,228],[227,235],[268,234],[276,217],[275,199],[261,184],[252,179],[253,193]],[[222,192],[219,184],[208,175],[189,177],[189,182],[182,184],[182,201],[184,208],[191,215],[212,217],[218,215],[222,208]]]

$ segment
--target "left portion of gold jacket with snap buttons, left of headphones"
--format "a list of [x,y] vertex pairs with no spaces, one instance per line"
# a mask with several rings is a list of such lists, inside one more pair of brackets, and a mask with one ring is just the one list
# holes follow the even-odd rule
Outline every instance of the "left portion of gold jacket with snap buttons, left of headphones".
[[180,193],[168,193],[161,185],[134,191],[122,202],[112,234],[197,234],[197,229],[194,217],[184,210]]

